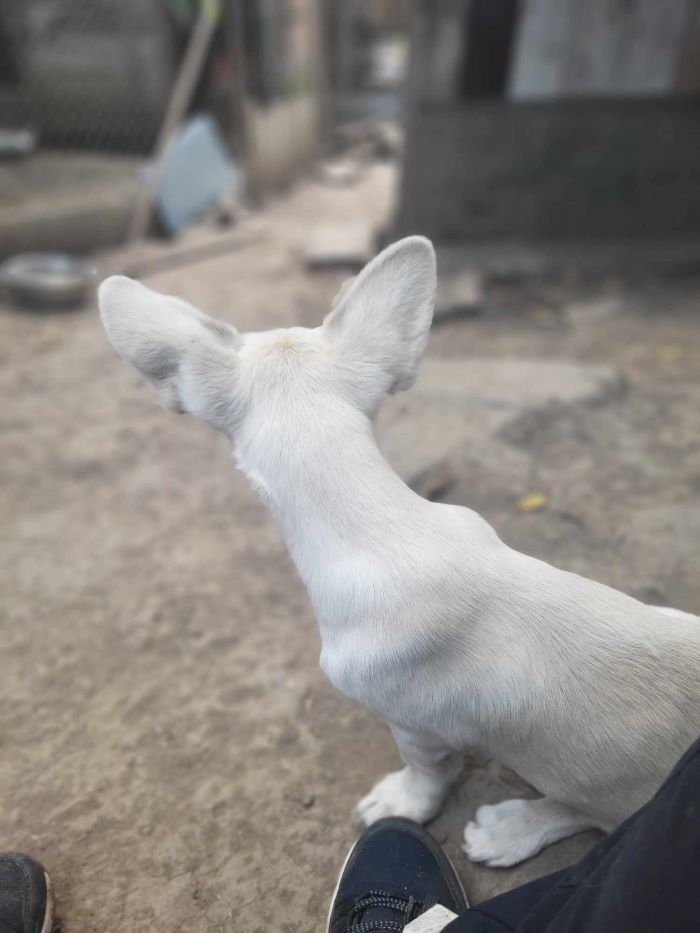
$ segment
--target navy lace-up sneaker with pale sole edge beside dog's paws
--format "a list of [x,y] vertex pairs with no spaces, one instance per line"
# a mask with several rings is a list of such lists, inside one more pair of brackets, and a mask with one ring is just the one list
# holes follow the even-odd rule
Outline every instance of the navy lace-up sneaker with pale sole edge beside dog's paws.
[[328,933],[401,933],[442,904],[458,914],[467,905],[447,855],[421,826],[379,820],[350,850],[328,917]]

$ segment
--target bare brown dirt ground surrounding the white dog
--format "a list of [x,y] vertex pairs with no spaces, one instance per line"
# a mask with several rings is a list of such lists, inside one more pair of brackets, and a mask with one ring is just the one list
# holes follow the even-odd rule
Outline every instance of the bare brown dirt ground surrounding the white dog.
[[[379,166],[308,182],[229,255],[148,278],[240,329],[314,323],[343,279],[298,261],[309,224],[391,203]],[[583,249],[584,247],[582,247]],[[574,301],[583,304],[571,307]],[[504,539],[642,599],[700,611],[700,280],[491,283],[429,354],[615,367],[597,405],[475,442],[442,498]],[[62,933],[315,933],[357,799],[398,766],[386,728],[318,668],[306,595],[226,442],[158,409],[96,313],[0,311],[0,847],[50,869]],[[530,492],[548,505],[520,514]],[[467,763],[432,830],[474,900],[567,864],[460,854],[475,801],[514,777]]]

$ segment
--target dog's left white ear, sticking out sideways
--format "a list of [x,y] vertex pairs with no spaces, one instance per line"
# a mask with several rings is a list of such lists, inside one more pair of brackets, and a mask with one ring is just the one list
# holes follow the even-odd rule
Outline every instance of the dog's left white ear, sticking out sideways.
[[156,387],[161,404],[222,427],[238,331],[124,275],[105,279],[98,300],[110,343]]

